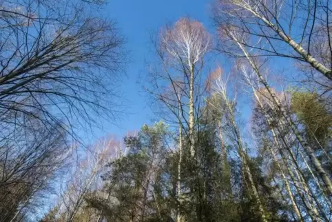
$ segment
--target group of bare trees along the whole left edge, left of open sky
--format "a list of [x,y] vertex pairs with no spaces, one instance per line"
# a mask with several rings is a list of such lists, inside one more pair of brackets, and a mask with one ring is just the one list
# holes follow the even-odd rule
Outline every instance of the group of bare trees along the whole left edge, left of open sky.
[[83,148],[76,129],[117,112],[123,37],[101,3],[0,1],[0,221],[45,211]]

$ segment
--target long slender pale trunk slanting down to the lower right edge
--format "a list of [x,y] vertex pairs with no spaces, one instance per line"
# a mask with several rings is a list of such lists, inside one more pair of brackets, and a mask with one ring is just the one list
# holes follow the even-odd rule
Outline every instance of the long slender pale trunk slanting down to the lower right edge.
[[[234,39],[236,39],[236,37],[234,37]],[[311,163],[313,163],[313,166],[315,167],[315,170],[320,175],[320,178],[322,179],[322,181],[324,181],[324,184],[326,185],[326,189],[329,190],[329,195],[332,195],[332,182],[329,179],[329,176],[327,175],[326,171],[322,167],[322,164],[320,163],[320,161],[317,159],[317,157],[315,157],[315,153],[313,152],[313,149],[307,143],[307,141],[302,139],[302,137],[300,135],[300,132],[298,132],[298,128],[296,128],[295,123],[291,120],[291,118],[289,117],[287,112],[284,110],[284,108],[282,107],[280,101],[277,99],[276,94],[271,90],[271,88],[270,88],[269,84],[267,83],[267,81],[264,79],[264,77],[262,77],[262,74],[260,74],[260,70],[258,69],[256,63],[251,59],[251,57],[247,53],[247,50],[245,50],[245,48],[238,41],[236,41],[236,43],[238,43],[239,48],[245,54],[245,57],[249,61],[249,63],[251,65],[251,67],[253,68],[253,70],[256,72],[258,78],[260,79],[260,82],[267,89],[267,92],[269,92],[271,98],[273,99],[273,102],[276,103],[276,105],[278,106],[278,109],[280,110],[280,112],[282,114],[282,117],[284,117],[287,124],[290,126],[293,134],[295,135],[296,139],[298,139],[298,141],[301,144],[302,148],[307,153]]]

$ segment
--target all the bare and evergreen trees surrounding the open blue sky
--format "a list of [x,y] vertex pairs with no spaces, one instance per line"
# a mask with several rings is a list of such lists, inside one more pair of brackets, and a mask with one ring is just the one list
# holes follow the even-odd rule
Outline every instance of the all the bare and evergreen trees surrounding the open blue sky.
[[101,1],[18,2],[0,8],[0,221],[331,221],[329,0],[218,0],[214,34],[161,28],[143,88],[162,121],[84,150],[75,127],[116,114],[123,39]]

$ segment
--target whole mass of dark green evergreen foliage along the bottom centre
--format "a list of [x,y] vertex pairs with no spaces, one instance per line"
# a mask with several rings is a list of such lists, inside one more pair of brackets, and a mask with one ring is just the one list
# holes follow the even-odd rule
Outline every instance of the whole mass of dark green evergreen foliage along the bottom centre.
[[[251,191],[242,175],[234,174],[240,165],[222,159],[213,128],[196,132],[196,158],[190,156],[188,141],[183,141],[179,205],[179,156],[165,149],[168,135],[165,125],[156,123],[144,125],[137,137],[125,138],[129,153],[110,163],[110,171],[103,176],[107,184],[104,192],[110,193],[112,200],[95,194],[87,199],[90,206],[110,221],[172,221],[174,210],[180,210],[185,221],[260,221]],[[260,163],[249,159],[270,221],[278,221],[282,205],[272,197],[273,188],[260,171]]]

